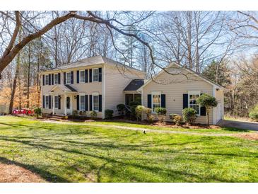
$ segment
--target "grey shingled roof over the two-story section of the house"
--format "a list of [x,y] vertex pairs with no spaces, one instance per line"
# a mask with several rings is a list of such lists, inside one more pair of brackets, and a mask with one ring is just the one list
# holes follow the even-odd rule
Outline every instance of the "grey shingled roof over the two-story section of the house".
[[78,62],[71,62],[69,64],[64,64],[60,67],[45,69],[45,70],[42,70],[42,72],[51,72],[51,71],[54,71],[54,70],[64,70],[64,69],[71,69],[71,68],[76,68],[76,67],[87,67],[87,66],[96,65],[96,64],[110,64],[110,65],[115,65],[115,66],[119,66],[119,67],[125,67],[125,68],[128,68],[128,69],[134,69],[135,71],[138,71],[138,72],[143,72],[139,69],[136,69],[134,67],[129,67],[126,64],[116,62],[113,59],[109,59],[109,58],[103,57],[101,55],[98,55],[98,56],[95,56],[95,57],[84,58],[84,59],[79,60]]

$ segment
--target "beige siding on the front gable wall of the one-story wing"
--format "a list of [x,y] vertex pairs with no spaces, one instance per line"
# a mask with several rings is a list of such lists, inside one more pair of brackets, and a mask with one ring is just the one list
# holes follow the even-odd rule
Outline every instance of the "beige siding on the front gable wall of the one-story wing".
[[[156,81],[151,81],[145,87],[143,87],[143,105],[148,106],[147,95],[152,91],[160,91],[165,94],[165,104],[167,109],[167,115],[171,113],[182,115],[183,108],[183,94],[188,91],[200,91],[200,93],[208,93],[213,96],[213,86],[206,81],[200,79],[198,76],[189,74],[184,70],[184,74],[188,74],[188,80],[184,75],[171,75],[166,72],[160,74]],[[171,83],[171,84],[168,84]],[[210,113],[210,122],[213,122],[213,113]],[[206,116],[199,116],[197,123],[206,123]]]

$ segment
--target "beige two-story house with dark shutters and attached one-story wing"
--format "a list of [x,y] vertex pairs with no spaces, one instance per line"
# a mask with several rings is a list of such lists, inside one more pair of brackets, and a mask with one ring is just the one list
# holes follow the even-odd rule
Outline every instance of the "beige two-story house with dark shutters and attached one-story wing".
[[[116,110],[117,104],[131,101],[151,108],[164,107],[170,113],[182,109],[197,110],[197,122],[206,122],[206,110],[197,103],[201,93],[218,101],[210,114],[210,123],[223,118],[223,87],[179,64],[169,64],[152,79],[145,73],[112,59],[96,56],[42,72],[43,113],[71,115],[73,110],[95,110],[105,118],[105,110]],[[116,111],[115,111],[116,114]]]

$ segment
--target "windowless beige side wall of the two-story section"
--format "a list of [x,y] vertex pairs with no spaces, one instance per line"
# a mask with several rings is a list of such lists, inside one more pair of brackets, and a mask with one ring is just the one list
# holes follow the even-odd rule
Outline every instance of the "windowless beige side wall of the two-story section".
[[[105,109],[116,110],[119,103],[124,104],[124,89],[132,79],[143,79],[144,73],[134,69],[105,66]],[[115,113],[116,115],[117,113]]]

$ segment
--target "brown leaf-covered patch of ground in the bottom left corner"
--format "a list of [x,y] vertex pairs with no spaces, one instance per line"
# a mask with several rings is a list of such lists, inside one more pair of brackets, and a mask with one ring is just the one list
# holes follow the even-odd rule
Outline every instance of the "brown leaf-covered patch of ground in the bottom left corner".
[[37,174],[15,164],[0,163],[0,183],[42,183]]

